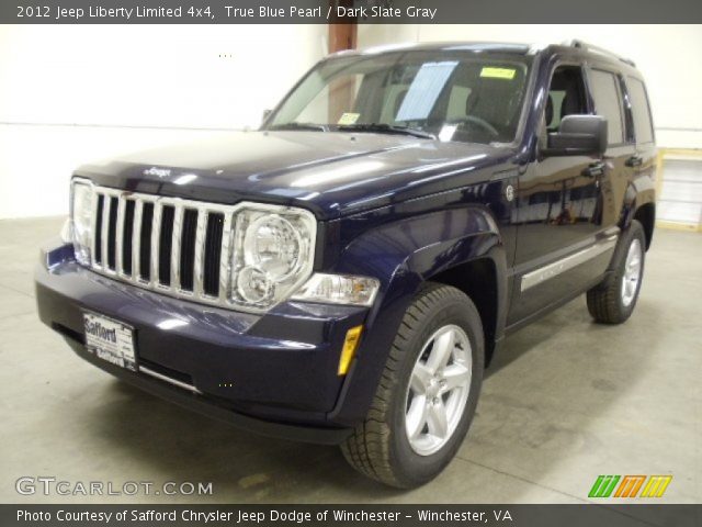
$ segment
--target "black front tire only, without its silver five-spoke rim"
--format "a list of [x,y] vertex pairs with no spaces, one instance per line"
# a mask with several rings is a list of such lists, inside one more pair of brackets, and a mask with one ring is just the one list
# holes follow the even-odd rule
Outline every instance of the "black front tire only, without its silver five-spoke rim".
[[[409,378],[423,345],[446,325],[462,328],[471,344],[468,399],[445,445],[420,456],[405,431]],[[428,283],[405,313],[366,418],[341,446],[346,459],[362,474],[390,486],[410,489],[432,480],[453,459],[471,426],[484,362],[483,325],[471,299],[455,288]]]

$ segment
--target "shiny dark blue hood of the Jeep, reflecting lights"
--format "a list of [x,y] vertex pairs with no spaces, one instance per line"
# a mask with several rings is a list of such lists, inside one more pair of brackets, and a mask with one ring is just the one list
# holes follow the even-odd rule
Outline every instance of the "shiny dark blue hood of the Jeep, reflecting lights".
[[480,169],[511,154],[405,135],[231,132],[86,165],[76,173],[134,192],[283,203],[331,218],[477,182],[485,176]]

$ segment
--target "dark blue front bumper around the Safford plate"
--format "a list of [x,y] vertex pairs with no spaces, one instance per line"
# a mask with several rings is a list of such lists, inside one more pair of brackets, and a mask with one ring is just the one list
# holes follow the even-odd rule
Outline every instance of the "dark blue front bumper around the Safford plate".
[[[346,379],[337,368],[346,333],[364,323],[367,309],[288,302],[264,315],[238,313],[99,276],[76,264],[71,254],[60,243],[43,250],[36,298],[42,322],[64,335],[83,359],[156,395],[253,431],[322,444],[341,442],[350,434],[349,423],[333,417]],[[137,362],[160,379],[87,351],[84,311],[134,326]]]

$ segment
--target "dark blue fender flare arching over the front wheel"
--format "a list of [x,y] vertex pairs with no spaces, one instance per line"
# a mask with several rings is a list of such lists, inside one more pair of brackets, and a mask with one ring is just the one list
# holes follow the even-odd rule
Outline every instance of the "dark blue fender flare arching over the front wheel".
[[[390,223],[366,232],[346,247],[335,272],[377,278],[381,290],[366,318],[356,360],[328,414],[330,421],[353,426],[365,417],[397,328],[422,283],[478,258],[495,262],[498,305],[505,306],[505,249],[497,223],[484,206],[452,209]],[[505,315],[501,318],[503,327]]]

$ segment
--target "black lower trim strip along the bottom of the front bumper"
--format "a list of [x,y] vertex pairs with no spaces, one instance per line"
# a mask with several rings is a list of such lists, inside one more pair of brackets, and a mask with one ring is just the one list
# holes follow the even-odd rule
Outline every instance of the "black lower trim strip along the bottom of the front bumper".
[[256,417],[249,417],[248,415],[242,415],[228,408],[217,406],[213,402],[207,401],[202,395],[174,388],[165,381],[157,380],[152,377],[146,377],[144,374],[135,373],[124,368],[120,368],[118,366],[111,365],[110,362],[88,352],[81,344],[76,343],[71,338],[66,338],[66,341],[80,358],[87,360],[93,366],[97,366],[101,370],[106,371],[107,373],[122,379],[129,384],[139,388],[140,390],[144,390],[145,392],[156,395],[157,397],[176,403],[188,410],[192,410],[217,421],[230,424],[237,428],[250,430],[268,437],[290,439],[301,442],[312,442],[316,445],[339,445],[343,442],[344,439],[347,439],[353,431],[352,428],[320,428],[273,423],[269,421],[257,419]]

